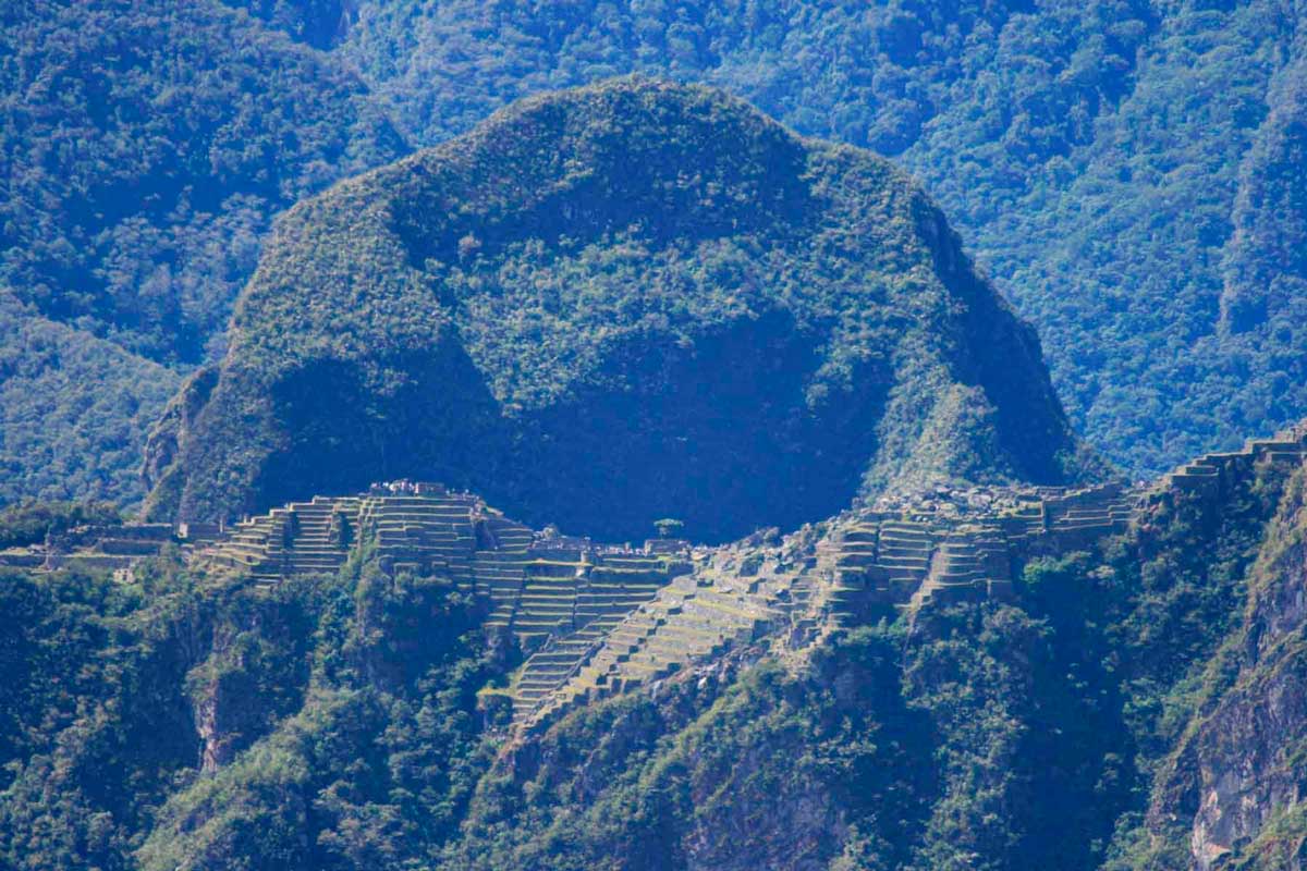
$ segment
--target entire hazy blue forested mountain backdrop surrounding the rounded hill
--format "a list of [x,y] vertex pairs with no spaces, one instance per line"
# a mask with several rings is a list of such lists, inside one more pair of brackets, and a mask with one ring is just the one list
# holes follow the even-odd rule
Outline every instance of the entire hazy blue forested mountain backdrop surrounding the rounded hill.
[[[720,85],[918,175],[1039,329],[1073,422],[1123,467],[1157,471],[1307,409],[1302,13],[1285,0],[25,0],[3,14],[7,286],[33,316],[165,363],[132,372],[152,394],[221,354],[273,212],[408,150],[401,136],[431,145],[532,91],[639,71]],[[140,495],[127,458],[144,434],[82,413],[105,406],[95,393],[65,388],[58,405],[76,410],[47,427],[37,404],[10,413],[34,435],[4,434],[3,498]],[[122,430],[127,444],[106,435]],[[81,462],[72,443],[105,458],[43,475],[44,457]]]

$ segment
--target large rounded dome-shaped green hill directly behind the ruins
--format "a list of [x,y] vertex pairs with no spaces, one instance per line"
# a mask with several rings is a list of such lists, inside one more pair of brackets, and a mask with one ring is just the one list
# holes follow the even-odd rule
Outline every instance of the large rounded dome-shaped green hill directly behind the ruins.
[[891,484],[1094,471],[1034,332],[907,176],[647,80],[295,206],[203,387],[152,436],[154,516],[410,477],[719,541]]

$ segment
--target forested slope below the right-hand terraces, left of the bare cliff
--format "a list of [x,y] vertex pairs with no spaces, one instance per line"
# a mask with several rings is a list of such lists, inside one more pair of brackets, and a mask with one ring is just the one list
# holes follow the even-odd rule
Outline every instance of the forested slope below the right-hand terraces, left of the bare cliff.
[[[1230,704],[1255,578],[1297,578],[1266,563],[1302,554],[1289,474],[1263,466],[1217,501],[1157,505],[1100,551],[1035,560],[1013,605],[580,708],[482,781],[444,867],[1188,868],[1193,808],[1174,808],[1179,824],[1149,808],[1172,810],[1171,760]],[[1268,526],[1277,511],[1298,531]],[[1283,738],[1247,736],[1302,752],[1281,755]],[[1231,765],[1249,752],[1216,747]],[[1298,849],[1285,800],[1235,867]]]

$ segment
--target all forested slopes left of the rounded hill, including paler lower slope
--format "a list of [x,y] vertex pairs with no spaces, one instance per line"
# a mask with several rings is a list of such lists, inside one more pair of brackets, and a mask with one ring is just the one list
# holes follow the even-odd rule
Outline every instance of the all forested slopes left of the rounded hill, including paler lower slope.
[[129,500],[272,215],[403,138],[339,61],[217,3],[0,10],[0,500]]

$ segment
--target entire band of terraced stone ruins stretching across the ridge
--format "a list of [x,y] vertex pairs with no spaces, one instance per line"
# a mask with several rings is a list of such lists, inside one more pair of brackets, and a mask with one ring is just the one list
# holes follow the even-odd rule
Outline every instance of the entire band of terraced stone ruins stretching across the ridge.
[[[605,545],[533,530],[469,492],[396,481],[352,496],[314,496],[230,526],[78,528],[0,564],[112,569],[175,545],[193,565],[273,586],[336,572],[371,548],[387,572],[447,578],[484,607],[490,632],[527,657],[514,675],[514,721],[667,678],[736,645],[800,645],[823,632],[958,599],[1006,598],[1021,567],[1123,533],[1176,494],[1218,499],[1257,462],[1300,462],[1307,428],[1200,457],[1151,483],[949,487],[889,494],[782,537],[732,545],[659,537]],[[665,530],[664,530],[665,531]]]

